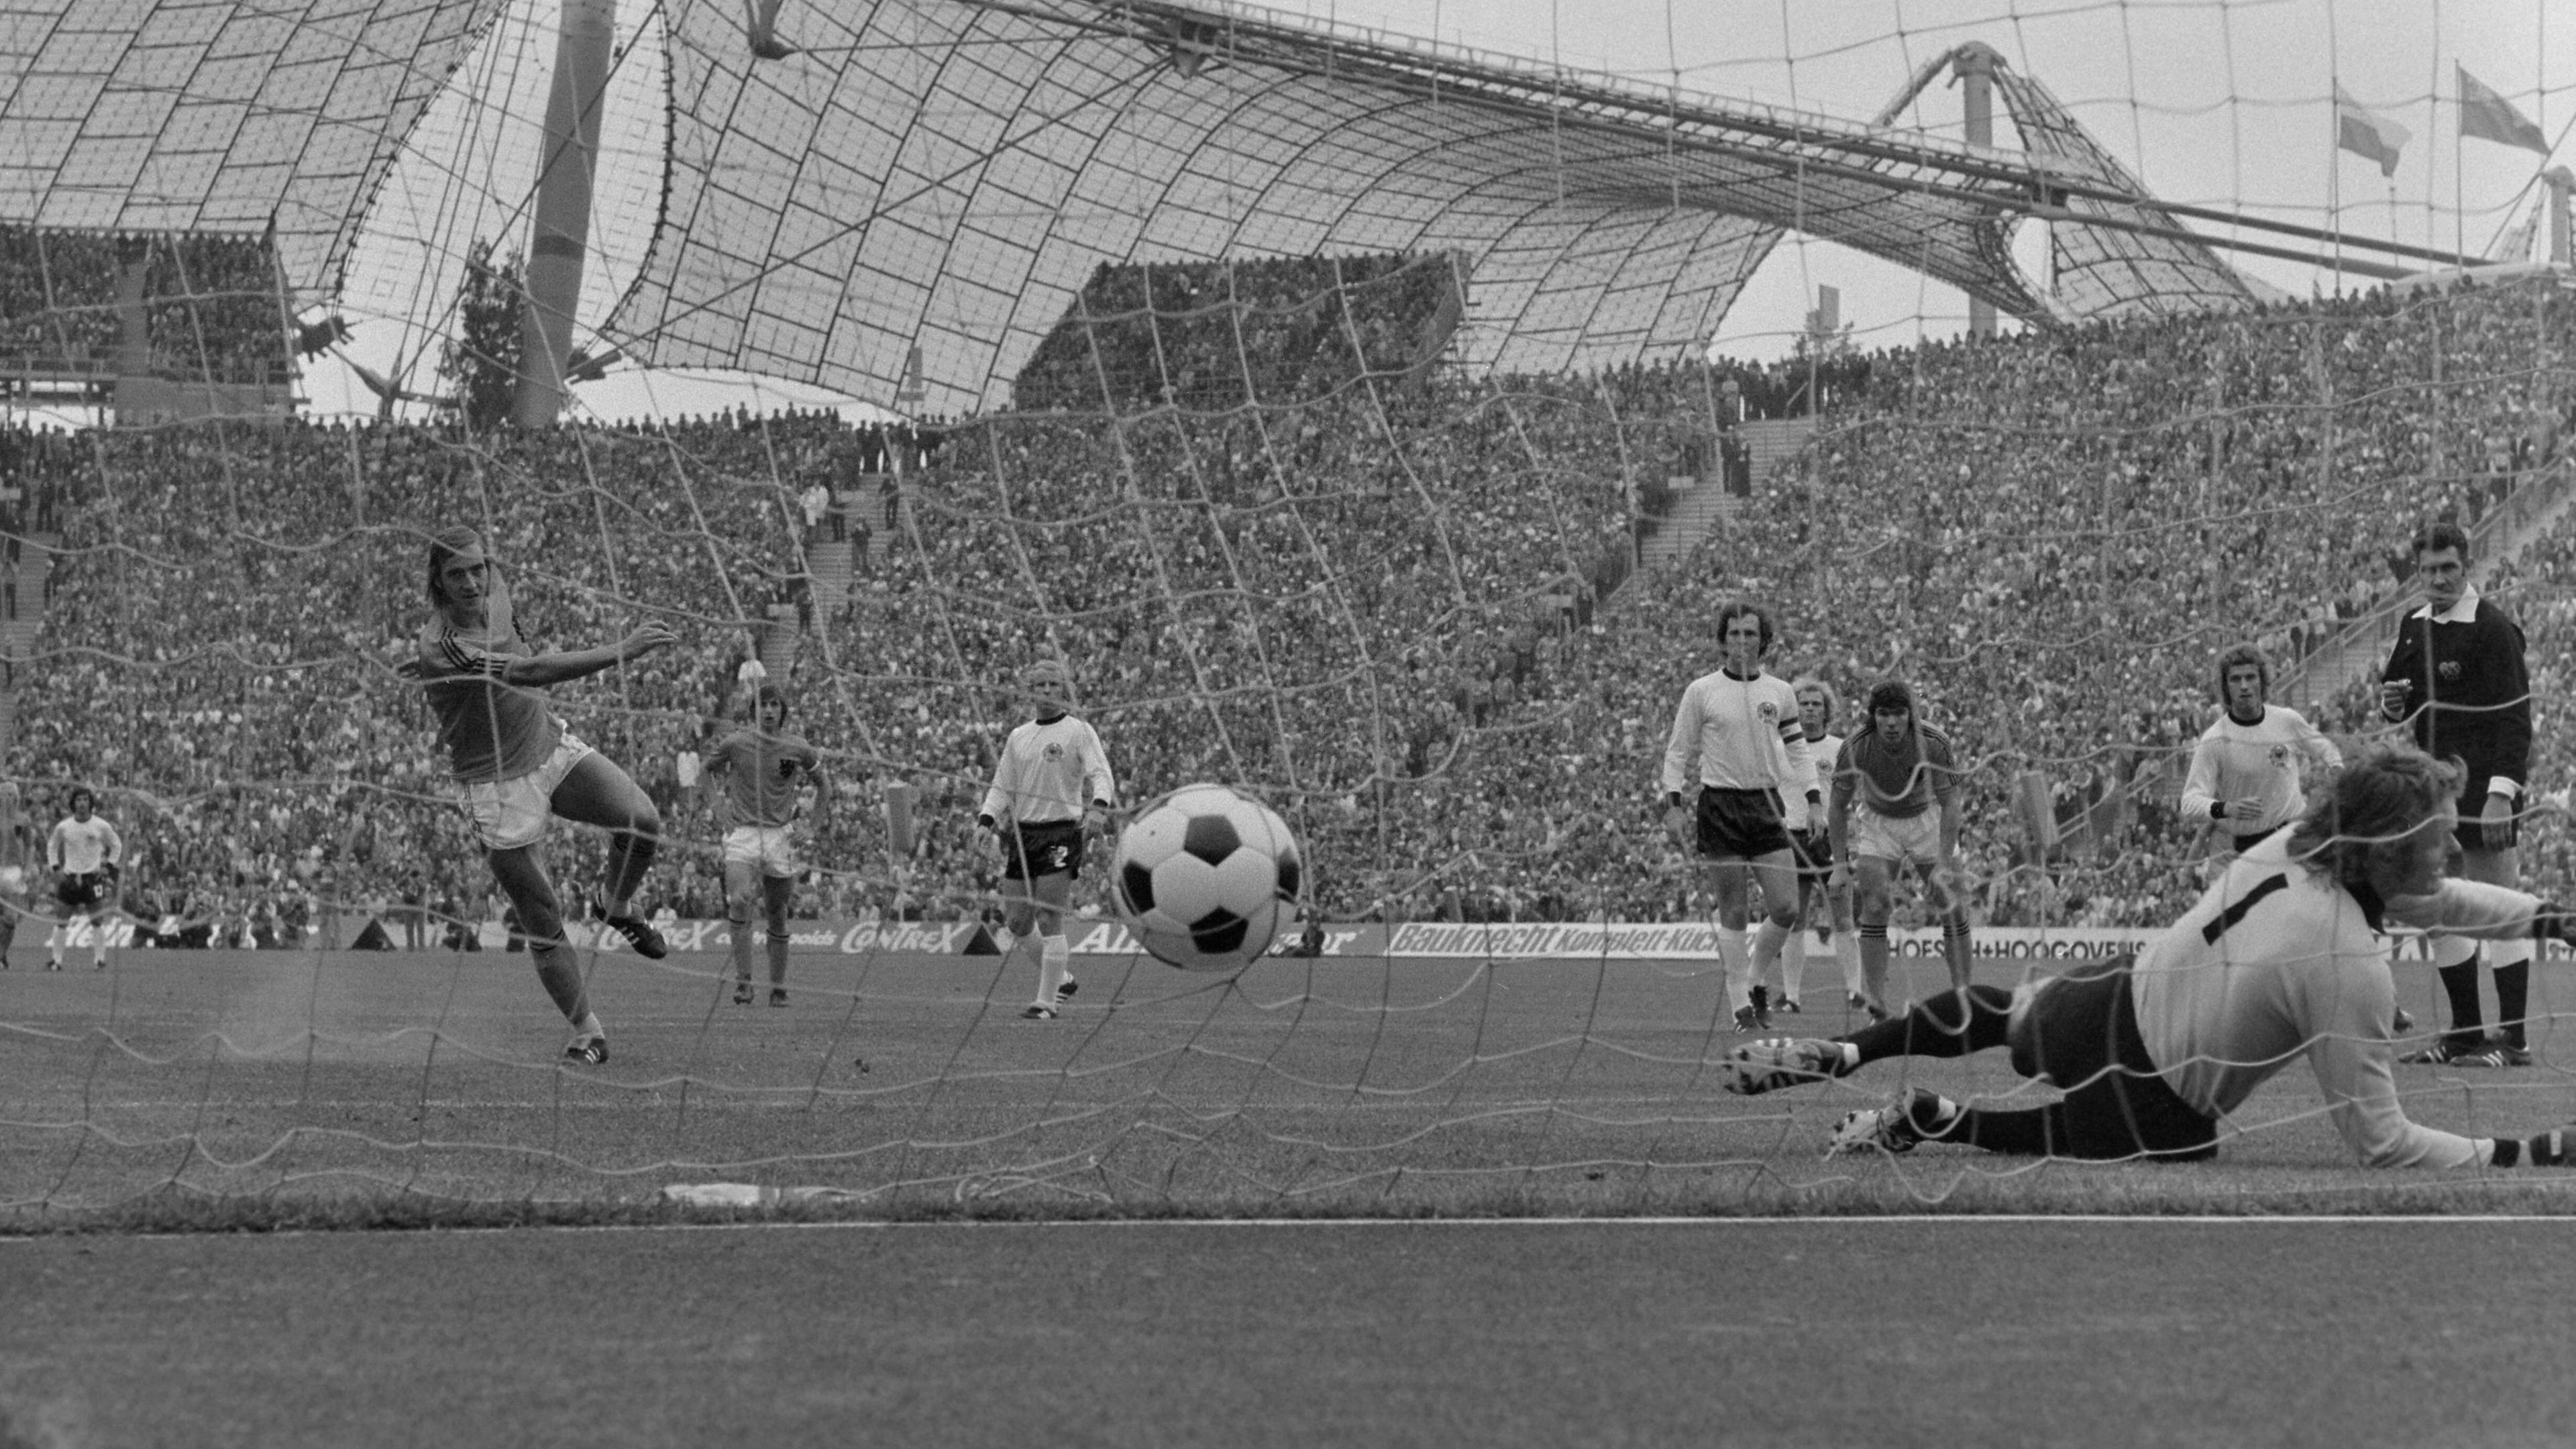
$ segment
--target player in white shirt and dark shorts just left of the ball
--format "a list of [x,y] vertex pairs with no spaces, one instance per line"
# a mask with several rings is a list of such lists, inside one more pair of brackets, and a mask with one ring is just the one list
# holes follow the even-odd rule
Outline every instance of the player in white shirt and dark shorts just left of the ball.
[[1100,735],[1069,714],[1072,670],[1038,660],[1020,670],[1020,694],[1030,719],[1002,740],[976,825],[1002,843],[1002,926],[1010,931],[1002,969],[1012,969],[1023,946],[1038,957],[1038,995],[1020,1016],[1054,1021],[1082,987],[1064,941],[1064,908],[1090,833],[1108,828],[1118,779]]

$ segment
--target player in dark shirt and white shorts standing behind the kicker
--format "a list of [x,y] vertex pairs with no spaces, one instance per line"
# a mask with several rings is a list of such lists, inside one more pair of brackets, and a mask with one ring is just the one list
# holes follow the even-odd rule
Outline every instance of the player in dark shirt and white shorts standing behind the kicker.
[[716,825],[724,828],[724,915],[734,928],[734,1006],[752,1003],[752,905],[768,926],[770,1006],[788,1003],[788,897],[796,892],[796,776],[817,784],[814,810],[829,810],[832,784],[822,753],[788,735],[788,696],[775,683],[752,694],[752,724],[706,755],[706,773],[724,776]]

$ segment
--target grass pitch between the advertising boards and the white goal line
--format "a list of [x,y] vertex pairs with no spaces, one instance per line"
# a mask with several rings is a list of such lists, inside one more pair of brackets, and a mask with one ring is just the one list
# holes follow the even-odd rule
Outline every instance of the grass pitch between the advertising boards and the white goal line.
[[[1824,1160],[1844,1111],[1904,1088],[2038,1088],[1986,1052],[1728,1096],[1705,962],[1079,967],[1059,1021],[1023,1021],[1030,982],[989,957],[799,957],[783,1011],[732,1006],[721,957],[603,957],[613,1057],[582,1067],[520,954],[21,959],[0,975],[0,1227],[2576,1209],[2576,1176],[2354,1168],[2300,1065],[2210,1165]],[[2535,972],[2540,1011],[2576,1003],[2568,977]],[[1808,998],[1783,1031],[1847,1026],[1829,972]],[[2429,969],[2401,998],[2432,1021]],[[2576,1119],[2553,1026],[2532,1070],[2401,1067],[2409,1114],[2481,1134]],[[781,1194],[665,1201],[708,1181]]]

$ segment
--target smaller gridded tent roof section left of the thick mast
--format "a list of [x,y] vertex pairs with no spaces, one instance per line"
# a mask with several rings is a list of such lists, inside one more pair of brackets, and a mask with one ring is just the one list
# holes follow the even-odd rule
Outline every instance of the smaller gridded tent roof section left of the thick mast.
[[0,0],[0,219],[260,235],[327,291],[507,0]]

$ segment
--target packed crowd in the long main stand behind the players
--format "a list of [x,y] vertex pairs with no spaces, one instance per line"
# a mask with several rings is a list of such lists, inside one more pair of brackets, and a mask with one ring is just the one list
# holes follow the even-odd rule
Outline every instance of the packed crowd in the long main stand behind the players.
[[[5,456],[59,500],[62,554],[10,773],[31,815],[75,781],[108,792],[134,900],[216,936],[495,918],[392,673],[428,608],[422,541],[461,521],[541,642],[639,616],[683,634],[559,706],[665,807],[649,897],[683,915],[721,900],[685,758],[760,652],[832,755],[799,915],[981,913],[994,861],[971,820],[1015,722],[1007,678],[1061,655],[1131,804],[1260,789],[1327,918],[1672,920],[1692,882],[1654,766],[1713,668],[1716,608],[1749,593],[1785,629],[1772,670],[1834,683],[1844,732],[1868,683],[1904,676],[1960,743],[1981,920],[2146,923],[2197,887],[2169,799],[2215,709],[2210,660],[2257,639],[2290,678],[2401,596],[2388,554],[2419,521],[2501,536],[2563,490],[2563,389],[2535,358],[2568,356],[2568,302],[2524,284],[1873,353],[1795,467],[1641,578],[1664,477],[1710,456],[1718,397],[1754,392],[1710,366],[1334,374],[1296,405],[1208,410],[1082,410],[1069,374],[1056,410],[938,433],[737,415],[18,438]],[[1193,338],[1190,361],[1221,369],[1236,335]],[[868,536],[822,601],[814,480]],[[2535,683],[2566,683],[2576,621],[2517,580],[2571,554],[2561,529],[2494,585],[2532,629]],[[788,601],[806,624],[762,650]],[[2334,709],[2321,724],[2367,727]],[[2548,722],[2543,740],[2545,794],[2566,745]],[[2032,771],[2050,853],[2012,804]],[[896,784],[917,792],[899,859],[878,810]],[[595,869],[587,833],[559,848],[559,879]]]

